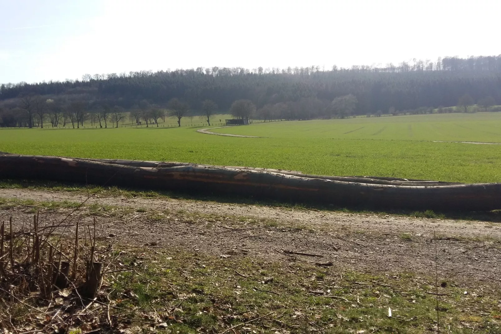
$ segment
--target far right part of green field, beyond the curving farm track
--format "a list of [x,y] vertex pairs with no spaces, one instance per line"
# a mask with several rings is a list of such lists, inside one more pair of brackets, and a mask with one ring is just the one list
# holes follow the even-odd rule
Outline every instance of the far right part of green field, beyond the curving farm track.
[[445,140],[501,142],[501,112],[357,117],[271,122],[214,132],[270,138]]

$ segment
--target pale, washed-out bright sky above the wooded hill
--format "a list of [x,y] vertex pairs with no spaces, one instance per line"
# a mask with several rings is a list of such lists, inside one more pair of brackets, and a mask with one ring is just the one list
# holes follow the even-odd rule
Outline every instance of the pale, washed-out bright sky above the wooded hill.
[[0,83],[501,54],[500,0],[0,0]]

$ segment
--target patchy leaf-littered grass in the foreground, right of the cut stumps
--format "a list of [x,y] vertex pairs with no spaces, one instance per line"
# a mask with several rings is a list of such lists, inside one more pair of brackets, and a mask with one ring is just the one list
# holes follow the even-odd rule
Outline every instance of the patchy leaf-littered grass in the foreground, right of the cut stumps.
[[[116,306],[121,308],[112,309],[111,315],[134,309],[122,315],[132,326],[137,324],[134,320],[148,319],[149,313],[142,309],[182,305],[160,313],[167,328],[158,332],[223,332],[271,312],[241,326],[241,332],[271,334],[280,328],[284,329],[280,332],[290,333],[436,330],[437,301],[429,293],[435,291],[435,281],[414,273],[369,274],[300,261],[217,258],[176,249],[128,253],[141,254],[135,263],[142,275],[119,272],[107,277],[106,283],[110,299],[117,300]],[[269,277],[273,280],[263,284]],[[453,281],[438,289],[444,295],[438,301],[441,331],[499,330],[499,291],[480,286],[480,282]]]

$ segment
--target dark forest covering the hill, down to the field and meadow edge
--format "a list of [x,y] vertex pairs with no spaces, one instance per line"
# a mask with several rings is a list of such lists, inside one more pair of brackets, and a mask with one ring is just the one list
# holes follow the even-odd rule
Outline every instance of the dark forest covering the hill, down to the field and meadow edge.
[[[0,126],[43,123],[44,117],[49,120],[51,108],[59,110],[61,117],[73,113],[81,121],[106,108],[106,114],[111,115],[113,109],[115,113],[130,112],[131,118],[135,112],[139,122],[140,113],[153,119],[150,114],[157,110],[161,117],[161,110],[171,109],[173,99],[181,103],[182,112],[192,114],[204,114],[208,100],[212,109],[220,112],[231,111],[236,100],[246,100],[253,106],[243,112],[244,117],[252,112],[253,117],[261,119],[416,113],[474,103],[487,110],[501,103],[501,55],[330,69],[199,67],[9,83],[0,85]],[[75,115],[78,113],[82,115]],[[53,120],[51,123],[54,125]]]

